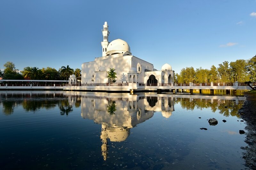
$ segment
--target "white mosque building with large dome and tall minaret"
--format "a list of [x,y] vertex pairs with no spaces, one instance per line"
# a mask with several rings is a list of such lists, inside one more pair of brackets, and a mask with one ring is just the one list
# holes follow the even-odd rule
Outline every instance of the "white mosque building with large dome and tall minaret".
[[102,57],[82,64],[82,84],[108,83],[110,68],[115,69],[116,82],[147,84],[174,82],[174,71],[169,64],[164,64],[161,71],[158,71],[153,64],[133,56],[129,44],[124,40],[115,39],[108,42],[107,22],[103,25],[102,35]]

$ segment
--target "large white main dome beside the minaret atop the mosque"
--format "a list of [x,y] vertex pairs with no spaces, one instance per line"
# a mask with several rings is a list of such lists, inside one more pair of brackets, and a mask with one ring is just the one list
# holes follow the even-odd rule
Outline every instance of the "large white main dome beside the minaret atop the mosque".
[[115,53],[125,53],[131,55],[130,46],[128,43],[122,39],[115,39],[108,44],[108,52],[107,55],[115,54]]

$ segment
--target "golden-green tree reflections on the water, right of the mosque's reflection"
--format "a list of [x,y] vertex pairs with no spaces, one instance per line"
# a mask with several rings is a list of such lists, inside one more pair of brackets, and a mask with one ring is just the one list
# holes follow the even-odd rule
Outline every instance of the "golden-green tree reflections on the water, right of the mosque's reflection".
[[180,106],[187,110],[194,110],[195,108],[201,110],[211,108],[212,112],[219,110],[219,113],[226,117],[229,115],[240,117],[237,112],[243,105],[243,101],[236,104],[233,100],[214,100],[211,103],[211,99],[193,99],[191,101],[189,98],[176,98],[176,103],[180,103]]

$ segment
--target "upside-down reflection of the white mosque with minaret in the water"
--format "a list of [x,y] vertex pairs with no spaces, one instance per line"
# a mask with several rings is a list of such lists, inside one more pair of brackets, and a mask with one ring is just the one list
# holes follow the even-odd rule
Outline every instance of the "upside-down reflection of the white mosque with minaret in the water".
[[[81,116],[101,124],[102,156],[107,159],[107,140],[121,142],[128,138],[130,129],[162,111],[169,118],[172,115],[171,97],[157,97],[129,94],[96,94],[81,96]],[[108,95],[108,96],[101,96]]]

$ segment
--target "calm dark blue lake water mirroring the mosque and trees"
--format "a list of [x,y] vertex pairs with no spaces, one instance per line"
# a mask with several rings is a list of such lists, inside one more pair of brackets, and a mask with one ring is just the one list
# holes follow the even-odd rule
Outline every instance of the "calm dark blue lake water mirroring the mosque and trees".
[[0,91],[0,169],[244,169],[244,100]]

